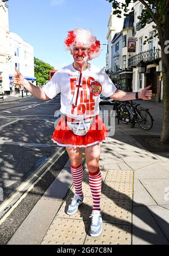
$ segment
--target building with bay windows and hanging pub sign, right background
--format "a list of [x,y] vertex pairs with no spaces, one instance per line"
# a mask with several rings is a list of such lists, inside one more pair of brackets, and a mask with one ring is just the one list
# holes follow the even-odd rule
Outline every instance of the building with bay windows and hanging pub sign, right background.
[[135,52],[135,38],[132,37],[134,12],[123,20],[123,29],[115,33],[112,40],[112,73],[109,74],[118,89],[132,92],[132,68],[128,68],[128,58]]

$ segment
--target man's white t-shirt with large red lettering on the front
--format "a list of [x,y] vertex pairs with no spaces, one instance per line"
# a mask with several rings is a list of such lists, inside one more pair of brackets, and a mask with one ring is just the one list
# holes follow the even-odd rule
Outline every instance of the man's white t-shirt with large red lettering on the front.
[[[57,71],[45,86],[43,90],[50,99],[54,98],[58,93],[61,94],[61,113],[72,118],[86,118],[88,116],[99,115],[99,96],[93,96],[90,93],[90,85],[92,81],[97,81],[102,86],[102,94],[110,97],[117,90],[108,75],[100,70],[100,68],[88,63],[88,68],[82,71],[81,85],[79,89],[77,107],[75,98],[77,96],[76,85],[79,83],[80,72],[75,70],[73,64]],[[74,110],[73,110],[74,109]]]

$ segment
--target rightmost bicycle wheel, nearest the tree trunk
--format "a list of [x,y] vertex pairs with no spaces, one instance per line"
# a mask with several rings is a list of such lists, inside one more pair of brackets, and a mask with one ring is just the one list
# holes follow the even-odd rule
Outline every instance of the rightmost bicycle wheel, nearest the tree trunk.
[[140,127],[146,131],[153,127],[153,117],[150,112],[146,109],[139,109],[137,115],[137,122]]

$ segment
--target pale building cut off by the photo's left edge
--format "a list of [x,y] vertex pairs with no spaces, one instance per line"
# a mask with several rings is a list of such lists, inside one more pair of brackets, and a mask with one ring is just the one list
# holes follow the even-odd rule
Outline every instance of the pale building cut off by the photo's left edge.
[[0,93],[9,90],[9,23],[8,6],[5,4],[7,1],[8,0],[0,0]]

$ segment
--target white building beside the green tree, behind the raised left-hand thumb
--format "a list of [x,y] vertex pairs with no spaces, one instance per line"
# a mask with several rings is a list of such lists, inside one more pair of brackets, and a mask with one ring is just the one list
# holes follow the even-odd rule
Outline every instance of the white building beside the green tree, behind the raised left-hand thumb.
[[33,46],[25,42],[20,36],[10,32],[10,55],[9,73],[10,80],[15,72],[15,67],[31,83],[35,85],[34,77],[34,49]]

